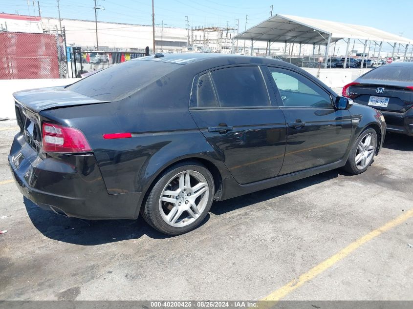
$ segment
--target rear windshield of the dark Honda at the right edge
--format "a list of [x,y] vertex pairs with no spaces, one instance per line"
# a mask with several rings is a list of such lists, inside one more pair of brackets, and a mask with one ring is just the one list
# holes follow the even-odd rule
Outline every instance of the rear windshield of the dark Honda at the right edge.
[[413,67],[388,64],[367,72],[363,78],[368,80],[413,82]]

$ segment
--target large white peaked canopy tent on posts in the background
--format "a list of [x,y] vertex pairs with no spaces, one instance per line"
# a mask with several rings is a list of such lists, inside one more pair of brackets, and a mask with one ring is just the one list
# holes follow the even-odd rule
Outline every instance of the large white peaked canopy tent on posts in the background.
[[[405,45],[405,58],[407,47],[413,44],[413,40],[372,27],[279,14],[239,33],[234,39],[251,40],[251,55],[254,41],[267,41],[269,44],[273,42],[284,42],[285,44],[298,43],[300,45],[300,54],[302,44],[313,44],[313,51],[316,44],[325,44],[326,59],[331,42],[347,39],[344,67],[347,64],[350,39],[365,41],[362,63],[364,62],[368,41],[380,43],[378,58],[380,57],[383,42],[392,43],[393,56],[397,43]],[[325,62],[325,67],[327,67],[327,61]]]

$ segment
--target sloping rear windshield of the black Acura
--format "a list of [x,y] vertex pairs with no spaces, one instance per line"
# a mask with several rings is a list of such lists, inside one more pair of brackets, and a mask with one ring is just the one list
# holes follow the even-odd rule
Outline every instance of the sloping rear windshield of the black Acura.
[[101,101],[119,101],[179,67],[181,64],[131,60],[90,75],[66,89]]

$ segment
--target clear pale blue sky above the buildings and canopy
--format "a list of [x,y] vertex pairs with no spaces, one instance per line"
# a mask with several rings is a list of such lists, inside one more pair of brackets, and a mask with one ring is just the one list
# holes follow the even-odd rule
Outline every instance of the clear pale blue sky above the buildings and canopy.
[[[0,0],[0,12],[38,16],[37,0]],[[27,5],[29,3],[29,6]],[[61,18],[94,21],[94,0],[60,0]],[[186,27],[225,26],[239,32],[252,27],[273,14],[340,21],[375,27],[413,39],[413,0],[154,0],[155,23]],[[98,21],[152,24],[152,0],[97,0]],[[58,17],[56,0],[40,0],[43,17]],[[388,46],[389,48],[390,46]],[[387,49],[387,48],[386,48]]]

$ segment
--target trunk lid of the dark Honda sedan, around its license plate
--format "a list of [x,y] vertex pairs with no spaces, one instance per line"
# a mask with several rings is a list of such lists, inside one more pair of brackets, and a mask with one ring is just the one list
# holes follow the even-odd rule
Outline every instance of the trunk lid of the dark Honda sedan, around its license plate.
[[354,102],[363,105],[369,105],[370,97],[389,98],[387,107],[369,106],[378,110],[404,113],[413,105],[413,91],[407,88],[410,85],[411,83],[395,81],[362,80],[360,84],[350,86],[348,92]]

